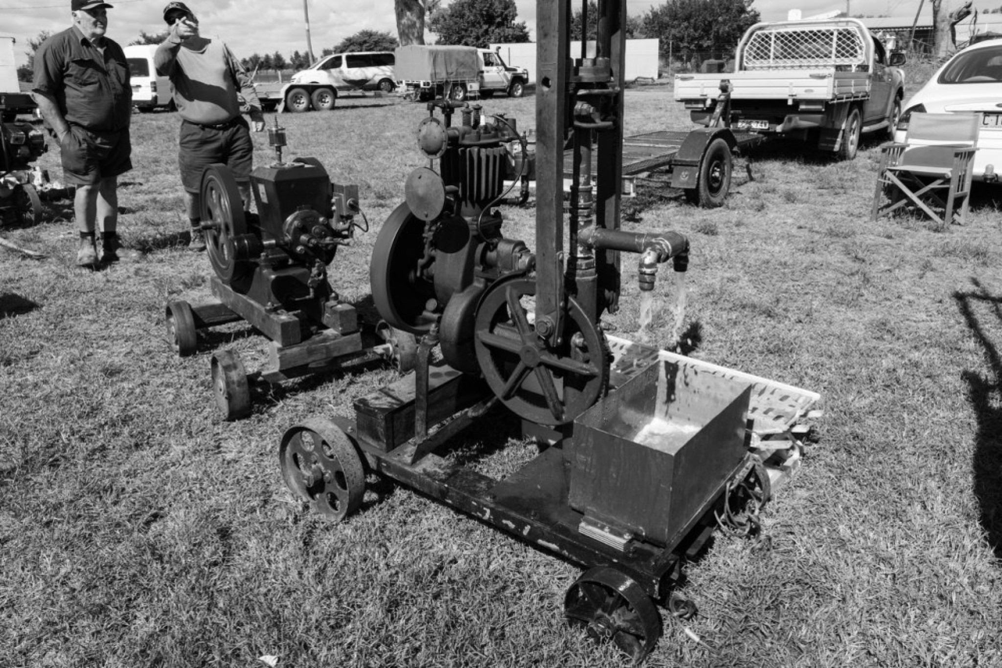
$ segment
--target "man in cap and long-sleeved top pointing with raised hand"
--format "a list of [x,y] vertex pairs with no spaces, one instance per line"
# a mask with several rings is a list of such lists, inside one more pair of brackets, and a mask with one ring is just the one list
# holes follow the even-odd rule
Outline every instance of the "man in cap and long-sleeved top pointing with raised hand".
[[198,19],[183,2],[163,8],[167,39],[153,54],[161,76],[173,84],[173,99],[181,117],[178,163],[184,185],[184,203],[191,224],[192,250],[204,250],[201,232],[201,172],[220,162],[229,167],[243,199],[250,201],[250,167],[254,143],[247,122],[240,115],[242,96],[255,131],[265,129],[258,93],[243,66],[220,41],[198,34]]

